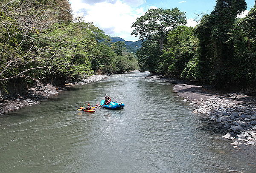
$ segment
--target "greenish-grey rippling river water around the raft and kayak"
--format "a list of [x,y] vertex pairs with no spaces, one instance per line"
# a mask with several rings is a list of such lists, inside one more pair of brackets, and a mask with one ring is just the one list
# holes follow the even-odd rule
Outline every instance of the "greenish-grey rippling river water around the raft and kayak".
[[[1,173],[255,173],[255,147],[234,149],[146,72],[63,91],[0,118]],[[77,111],[111,96],[122,110]]]

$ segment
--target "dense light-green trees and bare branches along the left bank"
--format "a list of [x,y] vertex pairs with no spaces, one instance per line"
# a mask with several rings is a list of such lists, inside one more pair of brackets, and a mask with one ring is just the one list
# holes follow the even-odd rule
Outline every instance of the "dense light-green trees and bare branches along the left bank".
[[44,77],[78,80],[137,69],[137,58],[111,48],[92,23],[73,19],[68,0],[2,0],[0,87]]

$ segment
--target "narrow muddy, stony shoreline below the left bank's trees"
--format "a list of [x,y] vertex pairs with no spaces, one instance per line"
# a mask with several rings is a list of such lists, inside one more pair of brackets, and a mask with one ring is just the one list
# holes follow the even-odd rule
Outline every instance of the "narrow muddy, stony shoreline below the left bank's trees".
[[61,91],[66,91],[72,86],[97,82],[107,77],[108,75],[92,75],[88,78],[84,78],[82,82],[68,83],[63,87],[50,84],[37,84],[25,92],[23,91],[15,96],[9,96],[7,99],[0,99],[0,116],[34,104],[39,105],[40,101],[47,99],[49,96],[58,94]]

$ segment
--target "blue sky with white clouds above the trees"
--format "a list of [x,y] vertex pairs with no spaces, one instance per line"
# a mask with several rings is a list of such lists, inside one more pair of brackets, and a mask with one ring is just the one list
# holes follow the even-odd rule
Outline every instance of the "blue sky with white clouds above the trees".
[[[131,36],[132,23],[148,9],[174,9],[186,12],[187,26],[195,26],[193,20],[200,14],[209,14],[215,7],[215,0],[69,0],[74,17],[83,17],[85,22],[93,23],[111,37],[121,37],[126,41],[137,41],[139,37]],[[247,11],[254,0],[245,0]]]

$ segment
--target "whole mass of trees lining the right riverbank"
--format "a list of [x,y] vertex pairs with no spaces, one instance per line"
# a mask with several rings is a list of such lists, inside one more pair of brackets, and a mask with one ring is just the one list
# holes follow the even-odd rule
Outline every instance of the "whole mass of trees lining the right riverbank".
[[217,0],[195,28],[183,26],[178,9],[149,10],[133,25],[132,34],[146,39],[137,51],[140,68],[221,88],[255,86],[256,8],[236,18],[246,8],[244,0]]

